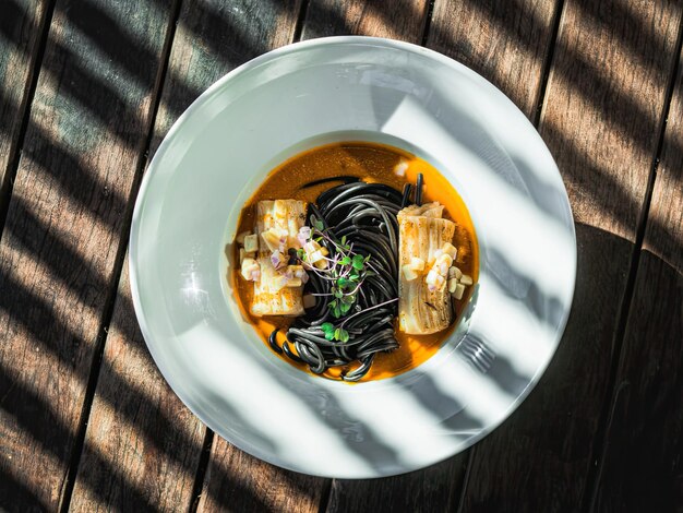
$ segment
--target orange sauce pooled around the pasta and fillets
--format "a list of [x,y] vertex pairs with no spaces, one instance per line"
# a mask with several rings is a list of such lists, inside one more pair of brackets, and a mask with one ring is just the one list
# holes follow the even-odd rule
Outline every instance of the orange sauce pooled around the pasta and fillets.
[[[407,163],[408,168],[405,176],[399,177],[394,172],[394,168],[402,159]],[[321,192],[340,183],[328,182],[300,190],[302,184],[313,180],[348,175],[359,177],[368,182],[382,182],[402,191],[406,182],[416,182],[419,172],[424,178],[422,201],[426,203],[432,201],[440,202],[445,206],[444,217],[456,223],[453,243],[458,249],[458,254],[455,265],[464,274],[470,275],[476,283],[479,276],[477,237],[463,199],[432,165],[408,152],[385,144],[367,142],[334,143],[317,146],[291,157],[273,169],[259,190],[247,201],[239,218],[237,232],[253,231],[255,203],[261,200],[296,199],[314,202]],[[231,246],[236,252],[232,255],[232,261],[239,262],[237,244]],[[232,283],[237,290],[236,299],[244,319],[248,319],[253,324],[260,337],[269,349],[271,346],[267,339],[276,327],[280,327],[278,342],[280,344],[285,342],[285,332],[289,324],[293,322],[293,319],[284,317],[256,318],[251,315],[249,313],[249,305],[253,295],[253,283],[245,282],[240,276],[239,265],[232,269],[235,270]],[[467,287],[463,300],[454,300],[455,322],[447,330],[431,335],[407,335],[396,330],[399,347],[391,353],[378,354],[370,371],[360,381],[381,380],[400,374],[418,367],[432,357],[459,321],[463,310],[471,296],[471,286]],[[290,347],[293,350],[293,345],[290,345]],[[307,366],[296,363],[286,356],[278,355],[275,351],[273,354],[285,359],[288,363],[308,371]],[[340,368],[333,368],[323,375],[338,379],[340,372]]]

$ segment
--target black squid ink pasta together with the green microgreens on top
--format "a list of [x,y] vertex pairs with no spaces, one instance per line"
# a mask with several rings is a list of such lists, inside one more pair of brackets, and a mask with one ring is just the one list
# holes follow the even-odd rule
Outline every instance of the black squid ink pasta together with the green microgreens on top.
[[[310,267],[303,294],[315,297],[315,306],[295,320],[281,347],[276,342],[278,330],[268,342],[274,350],[305,363],[313,373],[342,367],[343,380],[358,381],[368,373],[376,354],[398,347],[394,333],[399,273],[396,215],[412,192],[415,202],[421,202],[422,176],[415,187],[406,184],[403,193],[355,177],[316,180],[302,189],[326,181],[344,183],[309,204],[307,225],[315,228],[316,240],[331,261],[351,262],[350,277],[358,279],[347,287],[354,294],[343,294],[338,278]],[[290,256],[296,261],[295,254]],[[362,283],[362,287],[354,288],[355,283]]]

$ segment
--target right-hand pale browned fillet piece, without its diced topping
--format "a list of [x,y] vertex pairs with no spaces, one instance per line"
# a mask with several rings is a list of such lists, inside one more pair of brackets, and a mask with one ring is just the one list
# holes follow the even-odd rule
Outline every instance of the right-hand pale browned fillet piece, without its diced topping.
[[[434,261],[434,252],[451,242],[455,223],[444,219],[443,205],[410,205],[398,213],[398,258],[400,267],[411,259]],[[429,265],[427,266],[429,269]],[[408,281],[400,273],[398,281],[398,325],[411,335],[427,335],[445,330],[453,322],[451,294],[443,286],[430,291],[424,276]]]

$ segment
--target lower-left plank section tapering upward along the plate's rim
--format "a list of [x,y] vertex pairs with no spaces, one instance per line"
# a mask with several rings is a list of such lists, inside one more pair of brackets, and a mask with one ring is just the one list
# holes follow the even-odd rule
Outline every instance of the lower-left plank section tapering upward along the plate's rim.
[[204,430],[147,351],[125,262],[70,511],[188,510]]

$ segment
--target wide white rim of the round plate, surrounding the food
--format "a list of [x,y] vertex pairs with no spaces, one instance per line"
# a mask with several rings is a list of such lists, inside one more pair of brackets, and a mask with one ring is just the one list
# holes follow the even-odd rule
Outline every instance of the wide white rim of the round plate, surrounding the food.
[[[470,210],[481,261],[467,319],[436,356],[347,385],[271,354],[237,310],[224,246],[269,169],[354,139],[434,164]],[[519,405],[564,330],[576,241],[550,153],[499,90],[421,47],[334,37],[248,62],[180,117],[142,183],[130,271],[149,350],[202,421],[281,467],[368,478],[452,456]],[[495,354],[486,373],[466,356],[472,343]]]

